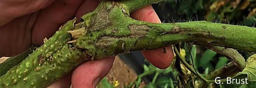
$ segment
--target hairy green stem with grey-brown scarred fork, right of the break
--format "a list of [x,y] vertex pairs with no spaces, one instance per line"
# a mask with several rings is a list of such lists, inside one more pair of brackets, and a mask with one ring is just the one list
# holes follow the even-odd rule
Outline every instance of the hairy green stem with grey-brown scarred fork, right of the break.
[[148,23],[130,18],[123,9],[122,5],[102,2],[94,12],[82,17],[87,32],[78,36],[73,45],[85,49],[85,54],[91,55],[92,59],[152,50],[185,41],[256,51],[256,30],[252,27],[206,21]]

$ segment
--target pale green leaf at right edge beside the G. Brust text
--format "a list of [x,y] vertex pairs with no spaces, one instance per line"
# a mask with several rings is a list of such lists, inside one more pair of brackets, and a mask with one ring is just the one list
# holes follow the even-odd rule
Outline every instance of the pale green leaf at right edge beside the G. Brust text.
[[247,75],[249,81],[256,81],[256,54],[247,59],[245,68],[242,72],[237,73],[236,76],[243,74]]

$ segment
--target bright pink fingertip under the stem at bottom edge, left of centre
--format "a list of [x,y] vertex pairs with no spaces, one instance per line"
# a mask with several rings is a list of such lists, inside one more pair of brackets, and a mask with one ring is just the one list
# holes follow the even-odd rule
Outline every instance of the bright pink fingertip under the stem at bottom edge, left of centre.
[[114,57],[106,57],[79,65],[72,74],[73,88],[95,88],[112,68]]

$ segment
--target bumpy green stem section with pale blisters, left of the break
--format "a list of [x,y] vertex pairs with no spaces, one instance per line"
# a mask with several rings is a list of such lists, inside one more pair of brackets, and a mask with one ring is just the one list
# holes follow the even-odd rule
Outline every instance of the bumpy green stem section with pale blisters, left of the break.
[[0,88],[42,88],[65,76],[87,58],[82,51],[71,48],[66,31],[74,28],[75,20],[68,21],[43,46],[36,49],[19,65],[0,76]]

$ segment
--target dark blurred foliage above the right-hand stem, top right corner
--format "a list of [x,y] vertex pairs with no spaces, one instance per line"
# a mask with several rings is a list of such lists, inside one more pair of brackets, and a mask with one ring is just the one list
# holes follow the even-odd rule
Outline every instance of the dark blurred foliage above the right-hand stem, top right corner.
[[[207,20],[215,23],[254,26],[255,0],[169,0],[155,6],[165,22]],[[166,8],[168,7],[168,8]]]

